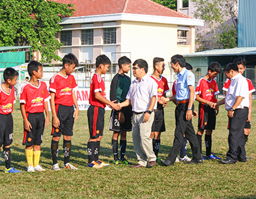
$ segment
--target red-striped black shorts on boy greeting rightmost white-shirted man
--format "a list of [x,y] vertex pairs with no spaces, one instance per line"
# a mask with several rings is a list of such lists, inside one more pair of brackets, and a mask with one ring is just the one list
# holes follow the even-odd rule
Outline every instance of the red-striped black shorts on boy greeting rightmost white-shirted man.
[[199,103],[198,128],[214,130],[216,125],[215,110],[208,104]]

